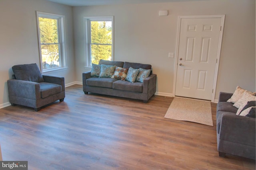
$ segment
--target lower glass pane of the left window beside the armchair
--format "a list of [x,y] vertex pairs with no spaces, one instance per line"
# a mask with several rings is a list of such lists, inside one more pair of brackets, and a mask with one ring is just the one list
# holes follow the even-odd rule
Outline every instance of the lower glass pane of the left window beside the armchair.
[[59,45],[41,45],[43,69],[60,66]]

